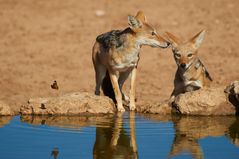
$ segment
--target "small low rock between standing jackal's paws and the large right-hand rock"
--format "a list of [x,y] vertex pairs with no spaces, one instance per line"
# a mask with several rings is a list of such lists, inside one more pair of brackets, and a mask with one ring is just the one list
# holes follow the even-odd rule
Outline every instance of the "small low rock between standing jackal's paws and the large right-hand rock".
[[171,106],[168,105],[168,101],[161,103],[144,103],[136,106],[136,111],[138,113],[152,113],[168,115],[171,114]]

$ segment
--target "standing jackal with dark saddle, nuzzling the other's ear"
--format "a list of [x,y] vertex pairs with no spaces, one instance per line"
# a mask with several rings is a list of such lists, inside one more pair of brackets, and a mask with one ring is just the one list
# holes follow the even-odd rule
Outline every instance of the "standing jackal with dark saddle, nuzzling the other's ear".
[[125,80],[131,74],[130,110],[135,109],[135,79],[142,45],[167,48],[169,43],[160,37],[147,23],[145,15],[128,16],[129,27],[112,30],[99,35],[93,47],[92,60],[95,68],[95,94],[100,87],[105,95],[117,102],[118,111],[125,111],[122,99],[128,100],[122,92]]

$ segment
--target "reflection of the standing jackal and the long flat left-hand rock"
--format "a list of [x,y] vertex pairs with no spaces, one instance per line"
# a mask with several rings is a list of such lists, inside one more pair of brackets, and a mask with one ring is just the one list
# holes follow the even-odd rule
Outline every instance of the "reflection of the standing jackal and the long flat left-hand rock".
[[[93,146],[94,158],[138,158],[135,113],[128,118],[123,113],[104,116],[22,116],[21,121],[33,125],[49,125],[60,128],[80,129],[96,126],[96,140]],[[128,120],[128,121],[124,121]],[[124,124],[129,124],[129,130]]]

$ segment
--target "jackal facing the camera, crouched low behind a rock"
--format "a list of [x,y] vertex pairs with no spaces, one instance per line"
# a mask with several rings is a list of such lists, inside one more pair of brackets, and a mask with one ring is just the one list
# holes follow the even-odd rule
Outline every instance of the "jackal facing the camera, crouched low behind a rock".
[[180,93],[194,91],[209,86],[212,81],[207,69],[198,57],[197,50],[201,45],[205,30],[184,42],[166,32],[171,43],[174,59],[178,66],[174,79],[174,90],[171,100]]

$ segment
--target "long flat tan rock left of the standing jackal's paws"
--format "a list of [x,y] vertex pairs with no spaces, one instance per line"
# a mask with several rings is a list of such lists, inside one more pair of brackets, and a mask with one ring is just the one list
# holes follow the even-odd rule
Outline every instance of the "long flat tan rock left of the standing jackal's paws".
[[115,111],[115,104],[108,97],[82,92],[58,97],[30,99],[28,104],[20,108],[20,113],[23,115],[106,114],[114,113]]

